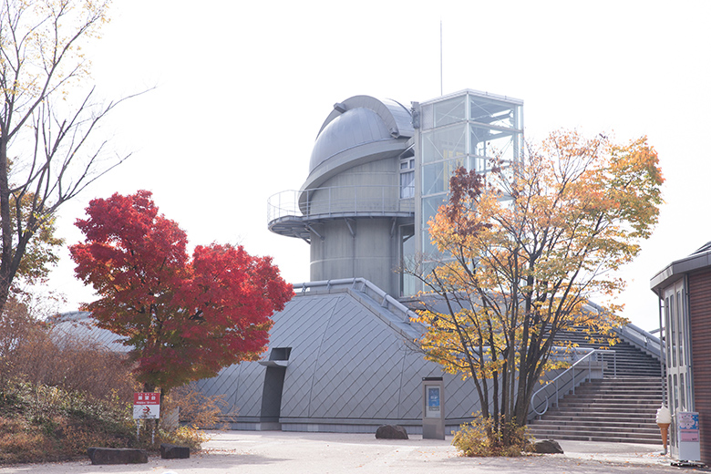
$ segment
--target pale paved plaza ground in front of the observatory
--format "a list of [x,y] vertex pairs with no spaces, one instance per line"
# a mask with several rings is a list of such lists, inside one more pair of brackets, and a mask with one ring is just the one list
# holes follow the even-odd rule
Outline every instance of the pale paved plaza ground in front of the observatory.
[[661,446],[562,441],[564,455],[521,458],[462,458],[447,440],[376,439],[374,435],[218,431],[191,459],[151,457],[148,464],[92,466],[87,460],[0,468],[0,474],[469,474],[711,472],[674,468]]

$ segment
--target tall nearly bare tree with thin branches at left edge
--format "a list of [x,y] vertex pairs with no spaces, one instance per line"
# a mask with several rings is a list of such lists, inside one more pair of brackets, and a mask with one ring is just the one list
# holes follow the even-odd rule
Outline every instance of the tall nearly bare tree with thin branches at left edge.
[[[128,156],[93,139],[129,97],[100,102],[82,46],[107,22],[107,0],[0,0],[0,313],[57,208]],[[79,98],[76,98],[76,95]],[[49,242],[57,245],[57,242]]]

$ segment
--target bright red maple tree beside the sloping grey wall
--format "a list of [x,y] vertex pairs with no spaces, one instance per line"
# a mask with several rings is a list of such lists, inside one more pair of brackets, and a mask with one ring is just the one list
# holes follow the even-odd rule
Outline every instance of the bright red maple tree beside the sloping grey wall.
[[146,390],[163,391],[256,360],[266,349],[274,311],[294,292],[271,257],[242,246],[195,248],[159,214],[149,191],[89,202],[70,247],[75,272],[99,299],[86,304],[98,327],[123,336]]

